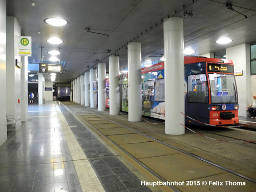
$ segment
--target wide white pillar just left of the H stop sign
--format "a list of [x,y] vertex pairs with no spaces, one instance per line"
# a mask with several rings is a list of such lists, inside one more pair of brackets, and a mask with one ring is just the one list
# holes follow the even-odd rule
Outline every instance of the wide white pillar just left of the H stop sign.
[[[21,69],[15,67],[14,63],[18,56],[18,37],[20,36],[20,26],[15,17],[7,16],[6,23],[6,103],[7,115],[13,116],[15,119],[22,117],[21,109],[21,90],[20,90],[20,74]],[[3,90],[5,91],[5,90]],[[19,121],[15,128],[18,129],[22,125]]]

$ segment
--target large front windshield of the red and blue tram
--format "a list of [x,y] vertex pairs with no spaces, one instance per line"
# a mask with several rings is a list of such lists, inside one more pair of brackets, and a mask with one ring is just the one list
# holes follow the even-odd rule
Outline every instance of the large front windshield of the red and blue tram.
[[238,95],[234,75],[211,73],[209,75],[211,103],[237,103]]

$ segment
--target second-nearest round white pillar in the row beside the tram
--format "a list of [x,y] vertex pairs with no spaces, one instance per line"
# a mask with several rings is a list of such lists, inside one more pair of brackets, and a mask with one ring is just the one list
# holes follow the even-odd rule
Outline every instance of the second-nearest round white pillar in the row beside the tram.
[[129,102],[128,120],[131,122],[141,121],[141,44],[131,42],[128,45],[128,83]]

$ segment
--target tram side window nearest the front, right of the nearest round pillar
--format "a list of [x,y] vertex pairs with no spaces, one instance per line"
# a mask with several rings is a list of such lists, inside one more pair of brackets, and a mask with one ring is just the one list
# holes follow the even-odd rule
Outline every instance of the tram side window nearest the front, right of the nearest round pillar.
[[208,103],[208,86],[205,74],[187,77],[187,102]]

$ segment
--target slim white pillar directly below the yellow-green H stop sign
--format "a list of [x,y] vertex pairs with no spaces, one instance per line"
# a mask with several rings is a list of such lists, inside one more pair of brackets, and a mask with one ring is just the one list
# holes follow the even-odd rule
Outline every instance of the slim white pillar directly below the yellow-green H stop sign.
[[20,81],[20,90],[22,96],[20,97],[22,104],[22,121],[26,121],[28,119],[28,57],[21,57],[22,61],[22,73],[21,73],[21,81]]

